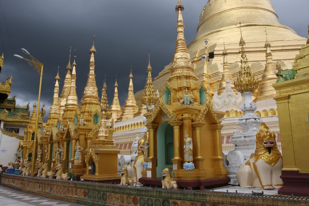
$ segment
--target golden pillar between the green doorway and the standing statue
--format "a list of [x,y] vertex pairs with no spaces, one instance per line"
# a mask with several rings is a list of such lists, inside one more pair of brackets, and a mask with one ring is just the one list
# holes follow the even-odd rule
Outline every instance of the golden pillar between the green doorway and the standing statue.
[[[170,121],[168,124],[170,124],[173,127],[173,133],[174,133],[174,158],[172,159],[173,162],[173,173],[178,173],[182,166],[182,158],[180,149],[183,148],[180,146],[180,126],[183,124],[183,121]],[[176,176],[178,176],[176,174]]]

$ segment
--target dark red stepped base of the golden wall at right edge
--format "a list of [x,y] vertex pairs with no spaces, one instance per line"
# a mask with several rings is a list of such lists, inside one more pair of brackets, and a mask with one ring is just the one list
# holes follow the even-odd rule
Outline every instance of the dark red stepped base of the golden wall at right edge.
[[284,186],[279,189],[278,194],[309,196],[309,173],[282,170],[280,178]]

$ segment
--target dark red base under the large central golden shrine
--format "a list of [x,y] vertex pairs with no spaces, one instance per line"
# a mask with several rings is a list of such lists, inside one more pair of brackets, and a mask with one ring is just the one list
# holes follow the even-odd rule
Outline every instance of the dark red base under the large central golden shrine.
[[[151,187],[162,187],[162,178],[146,178],[142,177],[138,179],[143,186],[151,186]],[[226,185],[230,182],[230,178],[208,178],[208,179],[195,179],[195,180],[176,180],[177,185],[180,189],[200,189],[204,190],[204,188],[214,188]]]

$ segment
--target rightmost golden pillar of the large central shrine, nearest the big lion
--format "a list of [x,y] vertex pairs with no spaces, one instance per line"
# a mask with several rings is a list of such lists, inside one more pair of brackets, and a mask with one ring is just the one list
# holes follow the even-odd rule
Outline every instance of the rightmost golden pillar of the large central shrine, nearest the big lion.
[[215,145],[215,156],[214,165],[216,168],[216,176],[219,178],[226,177],[229,172],[226,168],[223,167],[223,157],[222,157],[222,142],[221,142],[221,129],[222,124],[212,124],[211,128],[214,132],[214,145]]

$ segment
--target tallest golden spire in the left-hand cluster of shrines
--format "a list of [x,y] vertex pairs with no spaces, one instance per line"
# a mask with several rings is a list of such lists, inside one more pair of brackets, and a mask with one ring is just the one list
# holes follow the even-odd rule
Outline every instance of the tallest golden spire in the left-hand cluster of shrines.
[[93,124],[93,117],[91,116],[91,113],[95,110],[99,111],[101,109],[98,88],[95,82],[95,54],[96,49],[93,41],[90,49],[89,74],[80,108],[81,114],[83,114],[83,118],[88,124]]

